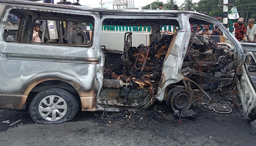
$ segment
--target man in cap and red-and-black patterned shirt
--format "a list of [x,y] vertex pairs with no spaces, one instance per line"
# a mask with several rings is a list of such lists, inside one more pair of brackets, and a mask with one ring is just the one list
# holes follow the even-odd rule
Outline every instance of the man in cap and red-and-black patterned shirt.
[[243,18],[238,19],[238,23],[234,23],[235,37],[238,41],[246,41],[246,26],[243,24]]

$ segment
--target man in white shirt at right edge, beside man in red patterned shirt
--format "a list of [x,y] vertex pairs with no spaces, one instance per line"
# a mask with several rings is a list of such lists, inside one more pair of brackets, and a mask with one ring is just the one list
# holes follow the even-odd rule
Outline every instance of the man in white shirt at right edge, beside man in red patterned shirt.
[[256,24],[255,20],[250,18],[248,20],[248,27],[247,27],[247,31],[246,31],[246,41],[250,42],[250,43],[255,43],[256,40]]

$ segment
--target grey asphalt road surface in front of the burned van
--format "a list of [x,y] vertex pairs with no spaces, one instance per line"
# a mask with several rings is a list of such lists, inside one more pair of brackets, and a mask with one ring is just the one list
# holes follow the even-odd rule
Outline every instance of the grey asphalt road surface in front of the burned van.
[[[152,108],[151,108],[152,109]],[[148,109],[150,110],[150,109]],[[231,114],[216,114],[197,108],[201,116],[169,126],[154,119],[146,124],[148,112],[133,113],[133,119],[118,120],[115,113],[79,112],[61,124],[35,124],[26,111],[0,109],[1,146],[253,146],[256,145],[255,123],[248,122],[239,110]],[[114,116],[112,116],[114,115]],[[166,115],[168,115],[166,113]],[[172,115],[172,113],[170,114]],[[136,119],[137,118],[137,119]],[[112,121],[109,121],[111,119]],[[178,121],[179,118],[174,118]],[[132,124],[130,124],[132,123]],[[254,126],[254,127],[253,127]]]

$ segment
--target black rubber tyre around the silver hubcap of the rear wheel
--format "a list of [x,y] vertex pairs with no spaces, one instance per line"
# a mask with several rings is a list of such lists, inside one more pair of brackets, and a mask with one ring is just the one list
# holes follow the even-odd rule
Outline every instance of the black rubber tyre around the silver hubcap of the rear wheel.
[[[41,117],[38,112],[38,105],[43,98],[49,95],[58,95],[65,100],[67,103],[67,113],[65,116],[58,121],[47,121]],[[60,88],[48,88],[45,90],[40,91],[36,94],[33,98],[31,104],[29,105],[29,115],[33,119],[35,123],[42,123],[42,124],[56,124],[56,123],[63,123],[72,120],[78,111],[78,103],[76,98],[70,94],[68,91],[60,89]]]

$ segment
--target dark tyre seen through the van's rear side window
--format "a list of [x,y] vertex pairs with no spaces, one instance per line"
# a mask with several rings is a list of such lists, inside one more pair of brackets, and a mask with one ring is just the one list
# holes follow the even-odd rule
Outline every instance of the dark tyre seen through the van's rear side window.
[[79,28],[74,29],[71,33],[71,43],[72,44],[87,44],[87,35],[85,32]]

